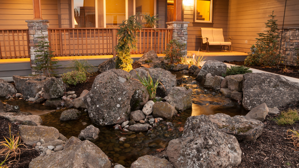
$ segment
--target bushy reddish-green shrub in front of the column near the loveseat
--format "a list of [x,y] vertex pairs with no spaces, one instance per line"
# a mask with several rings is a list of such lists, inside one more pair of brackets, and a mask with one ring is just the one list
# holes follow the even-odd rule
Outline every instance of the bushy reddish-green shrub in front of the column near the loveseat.
[[177,40],[170,40],[163,52],[165,54],[164,59],[171,64],[179,62],[182,56],[185,55],[185,48],[186,44],[181,44]]

